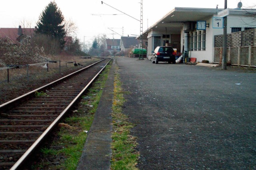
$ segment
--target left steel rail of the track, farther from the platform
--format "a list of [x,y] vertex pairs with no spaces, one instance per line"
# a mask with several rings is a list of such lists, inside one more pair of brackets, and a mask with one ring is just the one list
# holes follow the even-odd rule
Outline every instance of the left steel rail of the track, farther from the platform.
[[[70,77],[70,76],[72,76],[72,75],[74,75],[74,74],[77,74],[77,73],[79,73],[79,72],[82,72],[83,70],[86,70],[87,68],[90,68],[91,66],[93,66],[93,65],[95,65],[95,64],[97,64],[97,63],[99,63],[99,62],[102,62],[103,60],[105,60],[105,59],[102,59],[102,60],[100,60],[100,61],[98,61],[98,62],[95,62],[95,63],[93,63],[93,64],[91,64],[91,65],[89,65],[89,66],[87,66],[87,67],[85,67],[85,68],[82,68],[82,69],[80,69],[80,70],[77,70],[76,72],[73,72],[73,73],[71,73],[71,74],[68,74],[68,75],[66,75],[66,76],[64,76],[64,77],[62,77],[62,78],[59,78],[58,80],[55,80],[55,81],[53,81],[53,82],[50,82],[49,84],[46,84],[46,85],[44,85],[44,86],[42,86],[42,87],[40,87],[40,88],[37,88],[37,89],[35,89],[35,90],[32,90],[32,91],[30,91],[30,92],[28,92],[28,93],[26,93],[26,94],[23,94],[22,96],[19,96],[19,97],[15,98],[15,99],[13,99],[13,100],[10,100],[10,101],[8,101],[8,102],[6,102],[6,103],[4,103],[4,104],[1,104],[1,105],[0,105],[0,113],[6,111],[6,109],[8,109],[8,108],[14,107],[14,103],[16,103],[16,102],[18,102],[18,101],[22,102],[25,98],[31,97],[32,95],[34,95],[35,92],[46,90],[47,88],[49,88],[50,86],[54,86],[54,84],[57,84],[57,83],[60,82],[61,80],[65,80],[66,78],[68,78],[68,77]],[[18,102],[18,103],[20,103],[20,102]]]

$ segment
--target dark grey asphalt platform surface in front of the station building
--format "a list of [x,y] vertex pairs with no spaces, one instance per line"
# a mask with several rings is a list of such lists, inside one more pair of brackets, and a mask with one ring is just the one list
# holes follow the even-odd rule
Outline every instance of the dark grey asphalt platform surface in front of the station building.
[[256,169],[255,72],[125,57],[116,64],[140,170]]

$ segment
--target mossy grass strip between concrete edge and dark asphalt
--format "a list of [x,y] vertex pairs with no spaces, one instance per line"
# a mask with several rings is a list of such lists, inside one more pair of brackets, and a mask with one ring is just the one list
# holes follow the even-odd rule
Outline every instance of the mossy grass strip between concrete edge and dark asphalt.
[[[116,72],[118,68],[116,68]],[[120,82],[119,74],[115,74],[114,79],[114,100],[112,105],[112,170],[138,170],[139,152],[136,151],[136,137],[130,134],[134,124],[129,122],[128,116],[122,114],[122,106],[126,101],[122,91],[122,83]]]

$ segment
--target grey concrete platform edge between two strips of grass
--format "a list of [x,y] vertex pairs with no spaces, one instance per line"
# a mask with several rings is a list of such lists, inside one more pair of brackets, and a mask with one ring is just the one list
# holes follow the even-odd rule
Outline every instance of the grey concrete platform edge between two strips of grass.
[[114,92],[113,60],[92,126],[88,132],[77,170],[109,170],[111,159],[112,100]]

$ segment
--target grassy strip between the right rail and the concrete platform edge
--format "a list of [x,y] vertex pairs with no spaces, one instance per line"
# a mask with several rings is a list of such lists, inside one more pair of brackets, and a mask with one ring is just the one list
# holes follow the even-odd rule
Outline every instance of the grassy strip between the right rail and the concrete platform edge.
[[[83,96],[78,112],[63,121],[72,128],[60,127],[56,140],[49,147],[41,149],[44,156],[32,169],[76,170],[87,138],[85,131],[89,131],[92,125],[110,67],[106,66],[88,93]],[[86,104],[93,107],[88,107]]]

